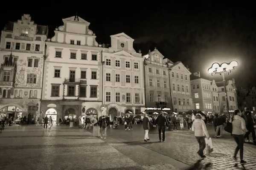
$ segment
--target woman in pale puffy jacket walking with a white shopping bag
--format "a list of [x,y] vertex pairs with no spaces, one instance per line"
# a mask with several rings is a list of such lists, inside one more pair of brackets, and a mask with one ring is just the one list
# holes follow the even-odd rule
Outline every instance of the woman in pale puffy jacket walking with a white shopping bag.
[[204,138],[206,136],[206,138],[209,139],[209,134],[206,125],[202,120],[201,114],[197,114],[195,116],[195,121],[192,125],[192,131],[195,131],[195,139],[198,141],[199,144],[199,150],[197,153],[201,158],[205,158],[206,156],[204,155],[204,148],[206,147],[206,143]]

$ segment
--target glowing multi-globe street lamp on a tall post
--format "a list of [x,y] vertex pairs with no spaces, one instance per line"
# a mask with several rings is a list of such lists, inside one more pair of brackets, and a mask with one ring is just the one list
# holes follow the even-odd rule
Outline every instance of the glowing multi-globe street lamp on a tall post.
[[227,99],[227,88],[226,88],[226,80],[224,73],[227,73],[228,75],[231,73],[231,70],[235,69],[235,67],[238,66],[238,62],[232,61],[229,64],[228,63],[222,63],[221,65],[218,64],[217,62],[212,64],[212,67],[208,69],[209,74],[220,74],[222,75],[223,79],[223,84],[224,84],[224,91],[225,91],[225,98],[226,98],[226,105],[227,105],[227,112],[228,116],[230,117],[230,112],[229,112],[229,105],[228,105],[228,99]]

